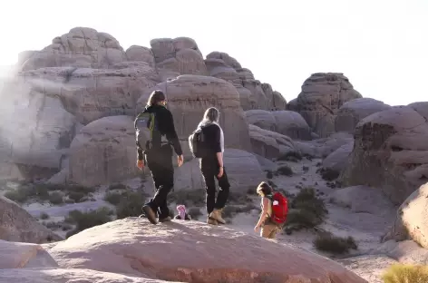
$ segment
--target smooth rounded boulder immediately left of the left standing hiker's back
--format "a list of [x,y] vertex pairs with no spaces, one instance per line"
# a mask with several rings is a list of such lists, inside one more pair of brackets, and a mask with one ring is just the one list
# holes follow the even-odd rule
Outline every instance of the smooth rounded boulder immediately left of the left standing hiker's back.
[[74,137],[70,148],[70,181],[96,186],[138,174],[135,129],[129,116],[91,122]]

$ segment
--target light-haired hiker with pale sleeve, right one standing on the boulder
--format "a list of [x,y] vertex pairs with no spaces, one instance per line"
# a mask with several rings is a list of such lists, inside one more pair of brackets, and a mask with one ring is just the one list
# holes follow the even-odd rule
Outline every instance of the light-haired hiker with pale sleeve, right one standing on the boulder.
[[[199,159],[200,171],[207,190],[207,212],[209,215],[207,223],[212,225],[226,224],[221,213],[229,198],[230,184],[223,164],[224,135],[219,126],[219,110],[214,107],[207,109],[198,127],[202,128],[206,142],[205,147],[208,150],[207,155]],[[214,178],[219,181],[217,200]]]

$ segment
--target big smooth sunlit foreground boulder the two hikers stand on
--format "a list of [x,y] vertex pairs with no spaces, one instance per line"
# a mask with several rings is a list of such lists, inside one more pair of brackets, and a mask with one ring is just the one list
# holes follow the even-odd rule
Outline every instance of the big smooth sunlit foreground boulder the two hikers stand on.
[[49,252],[60,268],[167,281],[366,283],[331,259],[199,221],[115,220],[73,235]]

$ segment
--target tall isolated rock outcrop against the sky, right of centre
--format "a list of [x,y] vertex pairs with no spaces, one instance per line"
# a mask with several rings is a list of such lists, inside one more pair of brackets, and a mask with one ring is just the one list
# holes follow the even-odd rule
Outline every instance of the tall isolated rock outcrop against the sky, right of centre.
[[309,127],[324,138],[335,132],[339,108],[361,97],[343,73],[313,73],[303,83],[297,101],[289,107],[302,114]]

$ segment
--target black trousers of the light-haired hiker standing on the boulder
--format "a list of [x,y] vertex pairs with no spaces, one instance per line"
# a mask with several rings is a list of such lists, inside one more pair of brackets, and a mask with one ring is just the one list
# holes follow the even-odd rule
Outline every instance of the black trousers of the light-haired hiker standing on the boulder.
[[[205,181],[205,190],[207,190],[207,212],[208,214],[212,210],[220,210],[224,208],[229,198],[229,180],[226,174],[226,169],[223,168],[223,176],[220,178],[219,175],[219,161],[217,157],[204,158],[199,161],[200,171]],[[219,194],[216,200],[216,182],[219,181]]]

